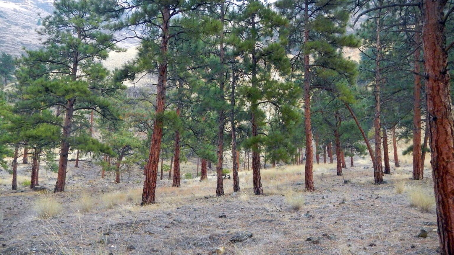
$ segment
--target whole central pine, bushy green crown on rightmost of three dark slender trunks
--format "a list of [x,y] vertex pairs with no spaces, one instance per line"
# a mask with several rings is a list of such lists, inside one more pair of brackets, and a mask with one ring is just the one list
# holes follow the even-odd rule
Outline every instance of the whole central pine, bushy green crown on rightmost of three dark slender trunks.
[[[252,136],[249,145],[252,148],[252,181],[254,194],[262,195],[262,180],[260,177],[260,126],[264,114],[261,101],[266,96],[267,86],[271,82],[271,67],[288,69],[288,60],[282,46],[286,44],[286,20],[271,9],[271,5],[259,0],[248,0],[239,7],[237,25],[234,33],[238,36],[238,49],[242,52],[247,62],[247,75],[250,87],[244,89],[248,102],[250,102],[250,121]],[[277,35],[279,36],[278,38]],[[275,41],[275,39],[278,39]],[[276,84],[275,84],[276,85]],[[268,88],[270,93],[272,87]],[[274,88],[275,89],[275,88]]]

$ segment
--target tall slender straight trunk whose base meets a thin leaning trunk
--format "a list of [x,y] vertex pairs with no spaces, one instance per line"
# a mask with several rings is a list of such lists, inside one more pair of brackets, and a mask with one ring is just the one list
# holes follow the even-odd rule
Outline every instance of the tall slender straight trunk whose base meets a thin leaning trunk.
[[[381,6],[381,2],[380,6]],[[375,56],[375,87],[374,87],[374,96],[375,96],[375,115],[374,115],[374,128],[375,128],[375,158],[377,166],[374,168],[374,183],[381,184],[383,183],[383,167],[381,163],[381,125],[380,125],[380,61],[381,61],[381,45],[380,45],[380,15],[381,9],[378,11],[378,17],[376,19],[377,29],[376,29],[376,56]]]

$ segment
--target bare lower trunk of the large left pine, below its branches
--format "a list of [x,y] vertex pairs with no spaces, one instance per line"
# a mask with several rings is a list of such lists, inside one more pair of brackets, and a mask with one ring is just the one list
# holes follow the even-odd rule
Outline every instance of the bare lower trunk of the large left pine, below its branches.
[[66,103],[57,182],[55,183],[54,192],[64,191],[64,184],[66,181],[66,167],[68,166],[69,137],[71,136],[71,124],[73,122],[75,101],[76,100],[74,98],[71,98],[68,99],[68,102]]

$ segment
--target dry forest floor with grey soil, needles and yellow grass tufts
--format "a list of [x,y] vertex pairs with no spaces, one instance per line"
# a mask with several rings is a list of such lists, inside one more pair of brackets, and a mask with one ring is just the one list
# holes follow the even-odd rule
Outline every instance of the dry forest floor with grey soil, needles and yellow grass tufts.
[[[311,193],[304,191],[304,165],[266,169],[263,196],[252,195],[252,171],[240,172],[241,192],[233,193],[232,180],[224,180],[221,197],[214,196],[213,171],[208,181],[182,180],[181,188],[171,187],[164,173],[150,206],[138,205],[140,169],[124,172],[114,184],[113,172],[100,179],[99,166],[70,162],[66,192],[56,194],[23,186],[10,191],[10,175],[1,170],[0,254],[205,255],[217,248],[228,255],[437,254],[434,208],[421,212],[409,202],[412,192],[433,194],[432,176],[426,169],[423,181],[411,181],[409,163],[392,167],[383,185],[373,184],[367,158],[355,157],[356,166],[344,168],[344,176],[336,176],[333,164],[315,165]],[[30,166],[20,166],[21,182]],[[183,174],[195,171],[193,162],[182,164]],[[405,190],[398,193],[401,181]],[[53,190],[54,183],[54,173],[41,170],[40,184]],[[293,210],[289,203],[298,199],[301,209]],[[42,220],[37,203],[61,209]],[[427,238],[416,237],[421,228]],[[244,231],[252,238],[230,240]]]

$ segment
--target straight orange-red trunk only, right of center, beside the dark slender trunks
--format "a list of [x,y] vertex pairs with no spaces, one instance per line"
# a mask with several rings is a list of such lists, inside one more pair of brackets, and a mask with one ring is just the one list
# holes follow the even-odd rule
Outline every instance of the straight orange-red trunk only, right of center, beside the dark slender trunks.
[[[304,44],[309,43],[309,0],[305,0],[304,7]],[[306,166],[305,184],[306,191],[315,191],[312,167],[314,164],[314,149],[312,147],[311,127],[311,93],[310,93],[309,54],[304,54],[304,130],[306,132]]]

